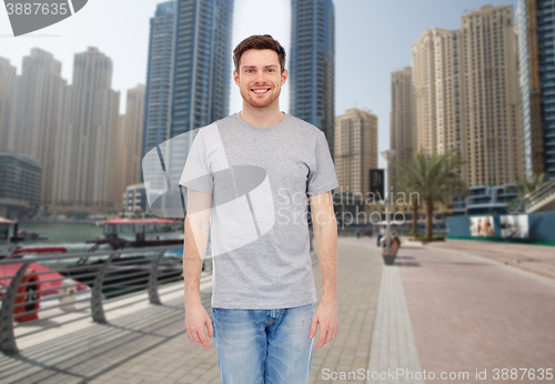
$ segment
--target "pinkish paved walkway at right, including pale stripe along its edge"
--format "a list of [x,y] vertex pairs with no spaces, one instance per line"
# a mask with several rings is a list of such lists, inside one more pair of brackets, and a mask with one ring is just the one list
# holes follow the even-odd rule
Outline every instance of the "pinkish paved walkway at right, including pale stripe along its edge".
[[[375,247],[374,239],[344,241]],[[480,244],[481,249],[487,249],[483,242]],[[382,280],[385,280],[387,275],[394,275],[394,270],[398,271],[410,324],[406,322],[406,314],[398,310],[402,309],[402,303],[397,303],[397,314],[390,320],[389,332],[398,333],[396,330],[400,322],[404,322],[408,336],[412,331],[421,370],[428,373],[427,382],[554,382],[547,377],[538,380],[537,373],[542,370],[545,373],[547,368],[555,371],[555,280],[473,255],[466,250],[450,250],[446,243],[443,245],[435,247],[403,242],[396,266],[384,267],[382,276]],[[450,245],[457,247],[460,244],[456,242]],[[464,245],[473,246],[477,247],[476,244]],[[543,250],[535,246],[519,246],[516,252],[534,254],[537,257]],[[542,265],[536,265],[535,270],[539,269]],[[382,296],[390,302],[389,305],[402,300],[401,293],[396,293],[397,299],[392,297],[398,285],[390,285],[390,296],[385,293],[380,296],[376,327],[380,325],[380,317],[386,315],[382,313]],[[382,291],[385,289],[386,286],[382,285]],[[389,312],[394,313],[391,310]],[[381,353],[374,348],[375,338],[374,332],[371,371],[373,368],[384,372],[386,367],[398,367],[398,360],[403,356],[401,352],[380,365],[372,364],[372,360],[377,358],[376,355]],[[397,336],[393,348],[395,343],[401,342],[403,336]],[[410,350],[411,343],[404,343],[405,348]],[[414,356],[412,358],[411,362],[405,357],[405,366],[402,366],[405,372],[417,372],[413,368],[417,366],[416,360]],[[500,370],[501,375],[501,370],[504,368],[508,370],[509,374],[511,370],[517,370],[513,371],[518,372],[514,376],[516,380],[502,376],[496,378],[495,370]],[[534,370],[536,380],[533,380],[532,375],[528,377],[524,368]],[[435,380],[430,380],[431,372]],[[476,377],[476,372],[480,372],[480,377]],[[440,380],[442,373],[447,375],[447,380]],[[448,375],[452,375],[451,378]],[[411,383],[412,380],[405,376],[398,381],[370,382]]]

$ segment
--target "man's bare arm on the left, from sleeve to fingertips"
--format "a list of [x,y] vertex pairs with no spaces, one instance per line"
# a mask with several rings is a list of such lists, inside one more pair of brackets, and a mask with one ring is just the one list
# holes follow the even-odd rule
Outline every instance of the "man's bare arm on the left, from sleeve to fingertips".
[[185,331],[189,338],[209,350],[210,344],[204,333],[204,326],[208,327],[210,338],[212,338],[214,331],[212,329],[212,321],[204,306],[202,306],[200,281],[202,263],[208,245],[211,204],[211,194],[188,190],[185,239],[183,244]]

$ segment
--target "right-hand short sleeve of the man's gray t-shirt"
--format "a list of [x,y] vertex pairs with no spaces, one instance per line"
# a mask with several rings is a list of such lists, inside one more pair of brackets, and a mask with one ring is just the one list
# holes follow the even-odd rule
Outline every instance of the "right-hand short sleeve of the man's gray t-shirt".
[[309,195],[324,193],[340,185],[324,132],[320,132],[316,139],[315,160],[315,166],[309,171],[306,180]]

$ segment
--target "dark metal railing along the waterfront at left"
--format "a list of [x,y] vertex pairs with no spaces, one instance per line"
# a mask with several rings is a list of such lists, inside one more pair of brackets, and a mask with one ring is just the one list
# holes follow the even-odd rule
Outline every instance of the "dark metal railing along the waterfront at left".
[[[107,323],[104,304],[124,294],[147,289],[149,302],[160,305],[158,287],[183,277],[182,257],[167,255],[180,249],[182,245],[0,260],[0,351],[17,354],[17,337],[65,322],[91,316],[97,323]],[[40,326],[33,330],[29,326],[33,324]],[[24,332],[16,336],[18,329]]]

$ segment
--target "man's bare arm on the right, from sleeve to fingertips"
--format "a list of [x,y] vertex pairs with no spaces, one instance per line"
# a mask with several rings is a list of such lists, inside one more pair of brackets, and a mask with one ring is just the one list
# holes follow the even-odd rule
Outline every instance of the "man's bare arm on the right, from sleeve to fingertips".
[[337,221],[333,210],[332,193],[309,196],[311,204],[314,244],[322,274],[322,300],[312,320],[311,335],[320,337],[314,350],[332,342],[337,336]]

